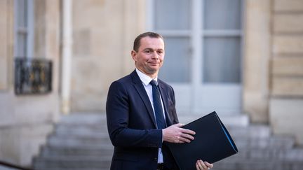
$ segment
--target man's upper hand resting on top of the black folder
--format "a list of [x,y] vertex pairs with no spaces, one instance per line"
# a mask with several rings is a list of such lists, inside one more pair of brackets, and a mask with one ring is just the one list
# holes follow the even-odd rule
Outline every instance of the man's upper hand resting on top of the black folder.
[[194,140],[193,135],[196,134],[196,132],[183,129],[181,128],[182,126],[184,126],[184,124],[178,123],[163,129],[163,141],[170,143],[189,143],[191,140]]

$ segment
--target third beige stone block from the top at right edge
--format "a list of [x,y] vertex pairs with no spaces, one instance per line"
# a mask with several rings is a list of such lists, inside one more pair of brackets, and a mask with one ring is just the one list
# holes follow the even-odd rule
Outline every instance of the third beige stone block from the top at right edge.
[[273,37],[274,55],[303,54],[303,36],[277,35]]

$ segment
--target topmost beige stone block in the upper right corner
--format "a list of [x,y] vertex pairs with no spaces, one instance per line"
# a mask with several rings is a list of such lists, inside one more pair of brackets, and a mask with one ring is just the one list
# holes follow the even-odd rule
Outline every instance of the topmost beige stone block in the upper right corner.
[[302,0],[274,0],[274,11],[298,12],[303,11]]

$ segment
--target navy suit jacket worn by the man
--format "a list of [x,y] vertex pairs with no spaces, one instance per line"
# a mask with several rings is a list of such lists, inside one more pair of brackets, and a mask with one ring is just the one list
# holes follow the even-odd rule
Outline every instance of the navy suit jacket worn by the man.
[[[173,87],[158,79],[168,126],[178,122]],[[156,129],[152,104],[136,71],[109,87],[107,128],[114,146],[111,169],[155,170],[162,148],[166,167],[177,169],[175,160]]]

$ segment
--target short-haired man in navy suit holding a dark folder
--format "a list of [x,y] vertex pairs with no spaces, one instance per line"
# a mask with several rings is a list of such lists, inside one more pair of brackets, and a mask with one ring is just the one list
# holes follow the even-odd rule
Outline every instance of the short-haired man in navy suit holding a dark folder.
[[[159,80],[165,55],[163,37],[153,32],[135,38],[135,71],[116,80],[107,95],[107,127],[114,145],[111,169],[178,169],[163,141],[189,143],[195,132],[178,123],[173,87]],[[198,160],[196,169],[213,164]]]

